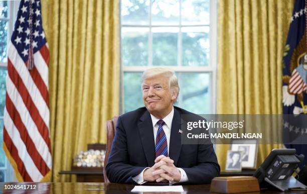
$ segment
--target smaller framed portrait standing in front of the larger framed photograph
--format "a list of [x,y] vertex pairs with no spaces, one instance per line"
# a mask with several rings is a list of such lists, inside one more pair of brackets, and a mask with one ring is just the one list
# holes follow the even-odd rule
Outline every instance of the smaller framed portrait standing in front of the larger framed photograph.
[[241,151],[227,151],[226,171],[240,172],[242,169],[242,152]]

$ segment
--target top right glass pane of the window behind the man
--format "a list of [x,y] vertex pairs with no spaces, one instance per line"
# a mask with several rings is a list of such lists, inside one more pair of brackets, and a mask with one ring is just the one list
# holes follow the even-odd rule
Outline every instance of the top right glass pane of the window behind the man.
[[208,25],[209,0],[182,0],[181,4],[181,22],[183,25]]

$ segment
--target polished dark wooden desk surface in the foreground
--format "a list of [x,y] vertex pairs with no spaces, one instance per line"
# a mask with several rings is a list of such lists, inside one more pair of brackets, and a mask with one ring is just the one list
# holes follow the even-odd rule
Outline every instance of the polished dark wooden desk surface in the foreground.
[[[35,189],[5,189],[5,187],[12,186],[26,186],[30,185]],[[130,193],[130,190],[134,185],[130,184],[118,184],[118,183],[72,183],[72,182],[38,182],[38,183],[21,183],[21,182],[9,182],[4,183],[0,182],[0,192],[3,193],[108,193],[108,194],[117,194],[117,193]],[[186,193],[210,193],[210,184],[199,184],[199,185],[183,185]],[[260,193],[306,193],[307,191],[271,191],[271,190],[262,190]],[[158,192],[155,192],[155,194]],[[174,192],[172,192],[174,193]],[[252,194],[252,193],[250,193]]]

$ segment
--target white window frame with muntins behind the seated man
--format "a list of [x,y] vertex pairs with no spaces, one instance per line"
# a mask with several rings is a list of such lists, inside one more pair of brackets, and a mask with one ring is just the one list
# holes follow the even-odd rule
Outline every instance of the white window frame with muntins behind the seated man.
[[[218,0],[210,0],[210,23],[209,25],[182,25],[181,24],[181,4],[182,1],[179,0],[179,25],[152,25],[151,24],[151,5],[152,0],[149,1],[149,25],[127,25],[122,24],[121,22],[121,3],[119,3],[119,10],[120,10],[120,69],[121,69],[121,76],[120,76],[120,114],[124,113],[124,83],[123,83],[123,75],[126,72],[143,72],[144,70],[152,67],[158,67],[152,65],[152,27],[179,27],[178,33],[178,65],[176,66],[159,66],[159,67],[169,67],[175,70],[176,73],[209,73],[210,74],[210,85],[209,85],[209,94],[211,100],[211,113],[216,114],[216,84],[217,84],[217,1]],[[121,42],[121,29],[122,27],[147,27],[149,28],[148,31],[148,65],[147,66],[124,66],[122,62],[122,42]],[[209,65],[208,66],[182,66],[182,41],[181,41],[181,28],[182,27],[209,27],[209,43],[210,43],[210,51],[209,51]]]

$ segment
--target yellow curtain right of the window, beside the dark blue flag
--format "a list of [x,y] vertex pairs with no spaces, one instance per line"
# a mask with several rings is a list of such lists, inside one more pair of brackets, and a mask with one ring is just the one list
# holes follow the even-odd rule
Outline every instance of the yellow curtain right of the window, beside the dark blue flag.
[[[282,53],[294,1],[218,1],[218,114],[282,114]],[[271,149],[259,145],[257,166]],[[217,145],[222,170],[229,145]]]

